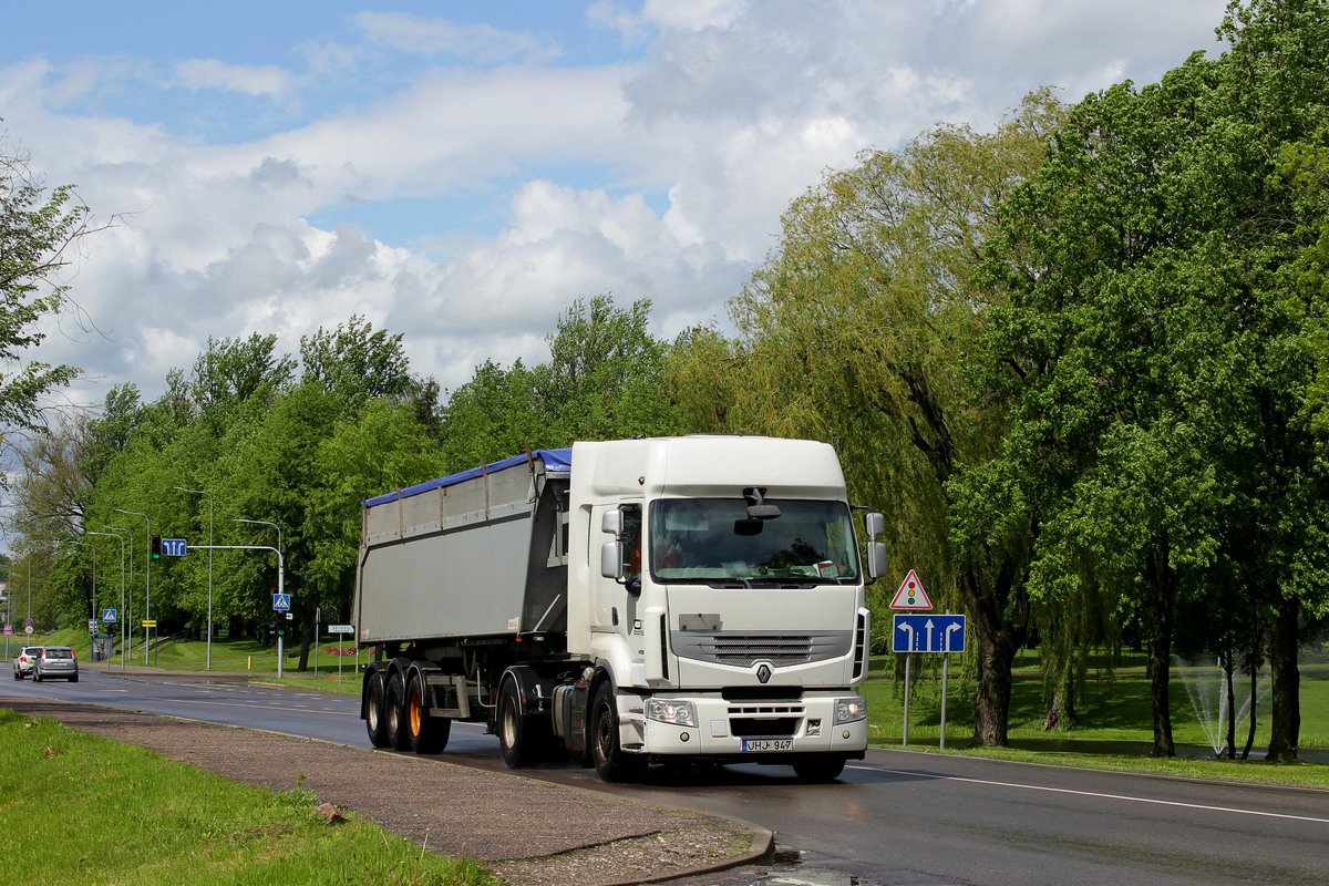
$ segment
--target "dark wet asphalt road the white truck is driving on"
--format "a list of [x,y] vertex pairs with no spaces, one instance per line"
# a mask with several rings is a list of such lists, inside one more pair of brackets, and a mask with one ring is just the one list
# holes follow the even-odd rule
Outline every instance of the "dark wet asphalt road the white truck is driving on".
[[[100,668],[98,668],[100,669]],[[130,671],[132,673],[132,671]],[[85,668],[77,684],[7,683],[39,695],[368,747],[358,700]],[[502,768],[480,727],[453,728],[444,758]],[[601,789],[593,772],[537,777]],[[1325,883],[1329,792],[874,749],[839,784],[784,766],[653,769],[615,793],[735,816],[776,832],[777,861],[707,883]]]

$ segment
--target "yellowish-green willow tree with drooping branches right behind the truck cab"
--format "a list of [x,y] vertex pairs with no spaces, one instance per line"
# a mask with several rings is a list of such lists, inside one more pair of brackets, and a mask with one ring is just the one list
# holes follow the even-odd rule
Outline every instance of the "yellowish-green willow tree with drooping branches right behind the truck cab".
[[953,481],[994,453],[1005,422],[966,372],[991,307],[974,270],[997,207],[1038,169],[1061,116],[1042,90],[993,133],[937,126],[828,173],[791,205],[779,247],[731,302],[739,340],[695,333],[674,357],[680,385],[731,400],[680,396],[691,425],[840,450],[853,494],[888,514],[897,571],[916,569],[969,615],[985,745],[1006,744],[1033,530],[950,542]]

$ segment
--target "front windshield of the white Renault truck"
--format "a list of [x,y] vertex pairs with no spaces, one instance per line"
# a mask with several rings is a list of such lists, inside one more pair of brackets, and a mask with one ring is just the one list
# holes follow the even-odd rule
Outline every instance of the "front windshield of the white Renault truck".
[[849,507],[835,501],[766,499],[748,517],[742,498],[661,498],[650,506],[651,578],[742,587],[841,584],[859,578]]

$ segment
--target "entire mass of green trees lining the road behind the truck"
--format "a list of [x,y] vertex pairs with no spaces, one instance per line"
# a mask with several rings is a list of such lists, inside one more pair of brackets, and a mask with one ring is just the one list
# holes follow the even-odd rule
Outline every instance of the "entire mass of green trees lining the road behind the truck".
[[[1078,740],[1118,704],[1103,687],[1134,704],[1143,680],[1130,729],[1171,757],[1196,744],[1184,659],[1217,662],[1225,692],[1265,675],[1255,747],[1294,760],[1329,732],[1301,673],[1329,624],[1329,0],[1237,0],[1215,25],[1217,48],[1156,84],[1075,104],[1031,84],[991,132],[938,122],[829,169],[731,299],[732,336],[664,341],[649,299],[602,294],[558,317],[548,361],[485,360],[443,391],[400,333],[352,316],[298,353],[210,340],[145,380],[155,399],[125,383],[64,421],[39,395],[74,371],[28,364],[0,385],[0,432],[27,434],[0,433],[21,462],[15,600],[73,631],[124,595],[137,623],[148,538],[183,538],[194,551],[152,567],[157,630],[243,640],[251,667],[275,551],[197,546],[279,546],[307,672],[316,615],[350,620],[367,497],[574,440],[808,437],[888,515],[897,580],[917,570],[968,616],[957,743]],[[0,238],[21,248],[0,268],[0,353],[17,360],[68,308],[61,256],[90,231],[7,147]],[[868,592],[878,655],[893,587]],[[1099,665],[1100,647],[1144,660]],[[154,663],[185,667],[183,648]]]

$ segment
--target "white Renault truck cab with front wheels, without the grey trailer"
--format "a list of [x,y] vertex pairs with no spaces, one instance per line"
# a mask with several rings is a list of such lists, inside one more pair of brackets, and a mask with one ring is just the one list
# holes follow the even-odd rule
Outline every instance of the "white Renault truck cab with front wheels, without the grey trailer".
[[569,648],[613,684],[590,715],[602,774],[646,754],[825,778],[861,757],[869,614],[832,448],[691,436],[573,464]]

